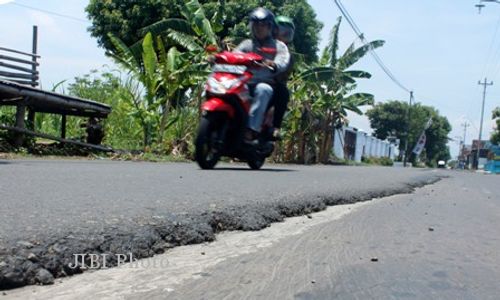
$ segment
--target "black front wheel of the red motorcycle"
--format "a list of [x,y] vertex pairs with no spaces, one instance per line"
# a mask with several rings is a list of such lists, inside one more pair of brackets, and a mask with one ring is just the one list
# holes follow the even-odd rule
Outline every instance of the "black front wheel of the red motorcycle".
[[217,140],[216,119],[207,115],[201,119],[198,135],[195,140],[195,159],[200,168],[213,169],[220,159],[215,147]]

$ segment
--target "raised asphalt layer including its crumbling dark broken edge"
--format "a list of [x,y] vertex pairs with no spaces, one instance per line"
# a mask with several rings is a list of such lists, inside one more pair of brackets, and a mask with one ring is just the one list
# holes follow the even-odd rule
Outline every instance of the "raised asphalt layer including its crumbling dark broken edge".
[[[111,267],[119,255],[135,260],[213,241],[224,230],[259,230],[330,205],[410,193],[445,175],[390,167],[250,171],[221,164],[202,171],[187,163],[2,162],[2,290]],[[87,255],[75,266],[77,254]]]

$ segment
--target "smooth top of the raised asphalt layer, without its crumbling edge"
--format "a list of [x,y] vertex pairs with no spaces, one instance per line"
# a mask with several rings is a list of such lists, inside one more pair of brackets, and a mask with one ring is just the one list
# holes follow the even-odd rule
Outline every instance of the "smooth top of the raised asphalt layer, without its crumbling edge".
[[0,241],[94,231],[228,207],[394,193],[435,175],[376,167],[0,161]]

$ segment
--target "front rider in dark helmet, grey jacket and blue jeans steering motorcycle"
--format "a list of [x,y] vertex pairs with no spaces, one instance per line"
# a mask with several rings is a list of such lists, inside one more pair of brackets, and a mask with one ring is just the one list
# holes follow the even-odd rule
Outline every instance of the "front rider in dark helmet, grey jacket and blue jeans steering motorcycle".
[[272,84],[274,77],[287,69],[290,61],[290,53],[287,46],[273,38],[275,27],[274,14],[266,8],[258,7],[250,13],[250,31],[252,38],[244,40],[234,52],[254,52],[264,57],[263,63],[269,66],[254,72],[254,77],[249,83],[253,92],[252,104],[250,106],[248,130],[245,140],[254,140],[260,132],[264,113],[271,97],[273,96]]

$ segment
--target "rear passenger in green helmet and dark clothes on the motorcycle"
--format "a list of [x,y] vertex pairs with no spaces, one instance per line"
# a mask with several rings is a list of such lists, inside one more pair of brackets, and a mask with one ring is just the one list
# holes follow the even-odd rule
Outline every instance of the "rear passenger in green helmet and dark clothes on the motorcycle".
[[[287,46],[293,42],[293,36],[295,34],[295,24],[293,20],[285,16],[277,16],[275,19],[276,29],[274,32],[275,38],[282,41]],[[288,102],[290,101],[290,91],[287,88],[287,81],[293,70],[294,59],[290,56],[290,62],[286,70],[279,73],[275,77],[274,94],[271,100],[271,105],[274,105],[274,117],[273,117],[273,137],[275,139],[281,139],[281,123],[283,122],[283,116],[285,114]]]

